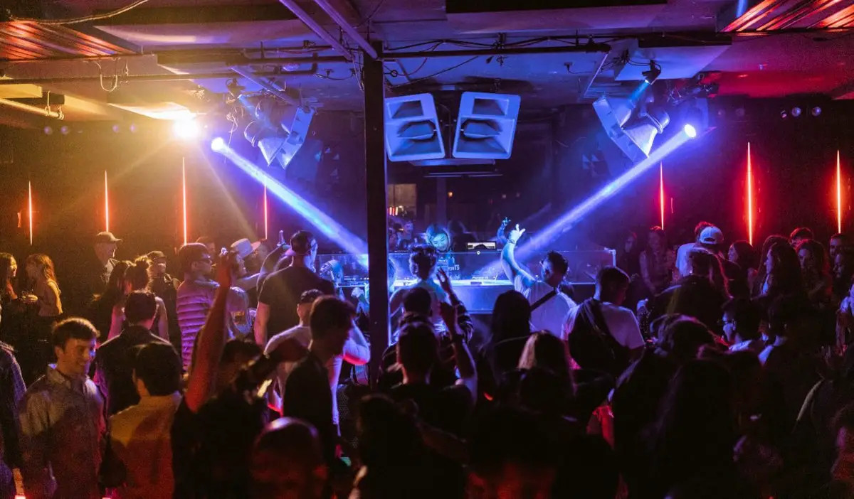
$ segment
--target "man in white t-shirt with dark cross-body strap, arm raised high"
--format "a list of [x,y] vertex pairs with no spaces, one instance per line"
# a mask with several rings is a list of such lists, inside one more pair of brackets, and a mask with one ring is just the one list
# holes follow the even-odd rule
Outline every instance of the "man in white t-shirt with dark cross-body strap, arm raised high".
[[516,262],[515,257],[516,245],[524,232],[525,229],[519,229],[518,224],[516,229],[510,231],[507,244],[501,251],[501,267],[516,291],[524,294],[531,304],[531,330],[545,329],[565,340],[564,323],[570,310],[576,306],[575,302],[559,289],[569,264],[559,252],[547,252],[546,258],[541,261],[540,278],[531,276],[528,270]]

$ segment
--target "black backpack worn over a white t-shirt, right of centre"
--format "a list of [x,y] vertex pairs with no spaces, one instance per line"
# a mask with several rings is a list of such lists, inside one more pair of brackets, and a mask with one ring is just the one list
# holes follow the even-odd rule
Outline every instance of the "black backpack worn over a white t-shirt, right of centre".
[[629,349],[611,336],[599,300],[578,305],[569,337],[570,356],[583,369],[602,371],[615,378],[629,367]]

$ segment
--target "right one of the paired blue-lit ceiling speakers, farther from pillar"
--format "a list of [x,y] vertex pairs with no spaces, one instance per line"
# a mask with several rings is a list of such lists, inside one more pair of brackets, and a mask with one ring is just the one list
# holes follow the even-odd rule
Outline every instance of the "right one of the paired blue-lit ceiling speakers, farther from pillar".
[[459,100],[453,157],[509,158],[521,101],[519,96],[464,92]]

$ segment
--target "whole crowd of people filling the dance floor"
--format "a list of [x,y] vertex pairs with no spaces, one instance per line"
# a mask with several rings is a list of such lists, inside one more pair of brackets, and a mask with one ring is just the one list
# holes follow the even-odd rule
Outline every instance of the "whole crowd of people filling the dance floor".
[[367,290],[315,270],[310,232],[200,238],[177,277],[103,232],[67,289],[0,253],[0,499],[854,496],[847,235],[654,227],[577,300],[505,225],[513,290],[479,334],[442,248],[407,239],[370,381]]

